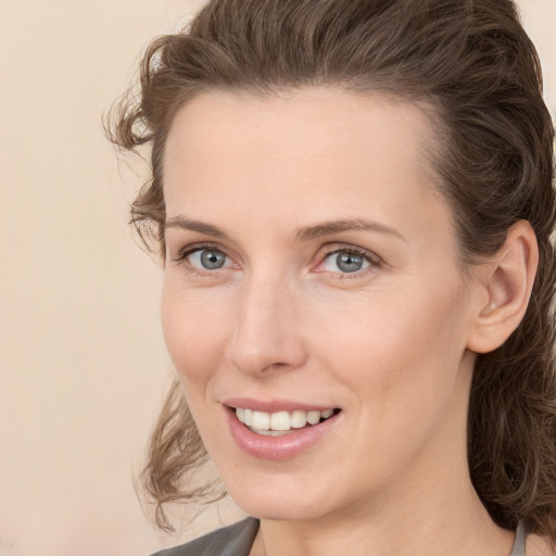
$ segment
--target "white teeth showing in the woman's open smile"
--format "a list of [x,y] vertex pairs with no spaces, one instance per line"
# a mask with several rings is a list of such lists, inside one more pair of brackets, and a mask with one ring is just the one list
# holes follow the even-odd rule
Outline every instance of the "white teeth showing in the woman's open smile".
[[256,434],[265,437],[291,434],[296,430],[314,427],[340,413],[340,409],[265,413],[242,407],[236,407],[235,410],[240,422]]

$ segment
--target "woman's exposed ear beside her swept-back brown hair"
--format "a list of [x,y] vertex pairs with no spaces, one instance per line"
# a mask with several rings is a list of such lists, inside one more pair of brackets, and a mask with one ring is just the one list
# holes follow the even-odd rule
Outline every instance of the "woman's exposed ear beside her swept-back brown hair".
[[527,311],[539,264],[531,225],[515,224],[498,252],[480,265],[476,283],[473,326],[467,348],[488,353],[500,348],[519,326]]

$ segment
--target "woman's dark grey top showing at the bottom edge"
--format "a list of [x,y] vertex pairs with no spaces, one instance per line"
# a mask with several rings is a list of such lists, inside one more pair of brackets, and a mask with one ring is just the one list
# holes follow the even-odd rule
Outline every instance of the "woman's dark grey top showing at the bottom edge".
[[[190,543],[157,552],[152,556],[249,556],[257,531],[258,520],[249,517]],[[523,525],[519,523],[509,556],[526,556],[526,536]]]

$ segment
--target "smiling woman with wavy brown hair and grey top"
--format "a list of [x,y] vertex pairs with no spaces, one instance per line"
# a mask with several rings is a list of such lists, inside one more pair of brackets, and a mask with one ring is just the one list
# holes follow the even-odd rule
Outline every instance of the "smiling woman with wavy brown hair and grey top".
[[556,554],[553,127],[510,0],[213,0],[113,117],[179,378],[157,522],[218,496],[206,453],[256,518],[164,554]]

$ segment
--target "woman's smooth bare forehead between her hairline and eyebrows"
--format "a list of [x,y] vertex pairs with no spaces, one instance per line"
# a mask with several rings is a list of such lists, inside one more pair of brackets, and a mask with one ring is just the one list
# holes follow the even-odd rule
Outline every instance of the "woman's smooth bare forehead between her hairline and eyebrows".
[[277,219],[287,213],[301,220],[311,206],[315,218],[364,211],[418,224],[438,204],[427,155],[432,136],[424,110],[378,93],[203,93],[181,108],[168,134],[167,216],[230,219],[233,207],[243,217],[240,199]]

